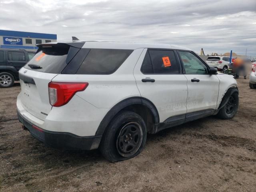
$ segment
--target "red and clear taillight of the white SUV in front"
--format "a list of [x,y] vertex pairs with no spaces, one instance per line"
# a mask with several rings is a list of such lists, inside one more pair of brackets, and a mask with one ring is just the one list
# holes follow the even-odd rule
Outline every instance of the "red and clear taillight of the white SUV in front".
[[67,104],[76,92],[83,91],[88,83],[50,82],[48,85],[50,104],[60,107]]

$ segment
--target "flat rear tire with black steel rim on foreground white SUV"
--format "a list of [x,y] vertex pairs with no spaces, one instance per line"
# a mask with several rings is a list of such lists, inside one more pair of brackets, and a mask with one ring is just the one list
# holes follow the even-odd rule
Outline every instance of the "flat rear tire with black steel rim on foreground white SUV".
[[128,160],[142,152],[146,138],[146,124],[142,117],[134,112],[121,111],[106,128],[100,152],[110,162]]

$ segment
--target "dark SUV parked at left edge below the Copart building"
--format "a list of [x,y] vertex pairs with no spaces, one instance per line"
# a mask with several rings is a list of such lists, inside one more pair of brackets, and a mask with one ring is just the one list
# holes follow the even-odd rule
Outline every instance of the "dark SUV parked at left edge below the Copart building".
[[36,52],[0,48],[0,88],[8,88],[19,80],[18,71]]

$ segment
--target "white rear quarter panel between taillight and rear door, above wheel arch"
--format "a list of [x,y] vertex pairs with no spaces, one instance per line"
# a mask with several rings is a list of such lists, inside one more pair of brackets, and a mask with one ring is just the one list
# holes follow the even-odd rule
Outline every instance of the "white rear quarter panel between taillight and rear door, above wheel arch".
[[88,82],[83,92],[76,95],[97,108],[112,108],[118,102],[133,96],[140,96],[133,76],[133,69],[143,48],[134,50],[124,63],[110,75],[60,74],[54,82]]

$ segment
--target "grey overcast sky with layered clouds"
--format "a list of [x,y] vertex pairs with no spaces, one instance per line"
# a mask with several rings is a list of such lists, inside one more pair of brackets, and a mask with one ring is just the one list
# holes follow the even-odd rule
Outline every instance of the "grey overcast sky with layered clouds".
[[0,29],[256,56],[256,0],[0,0]]

